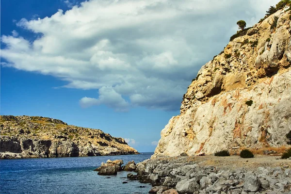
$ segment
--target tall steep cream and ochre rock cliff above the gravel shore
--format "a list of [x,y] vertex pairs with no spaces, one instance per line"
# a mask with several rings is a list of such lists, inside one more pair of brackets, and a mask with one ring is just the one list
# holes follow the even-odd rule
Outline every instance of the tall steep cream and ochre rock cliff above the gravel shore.
[[291,131],[291,21],[287,8],[242,31],[203,65],[153,158],[284,146]]

